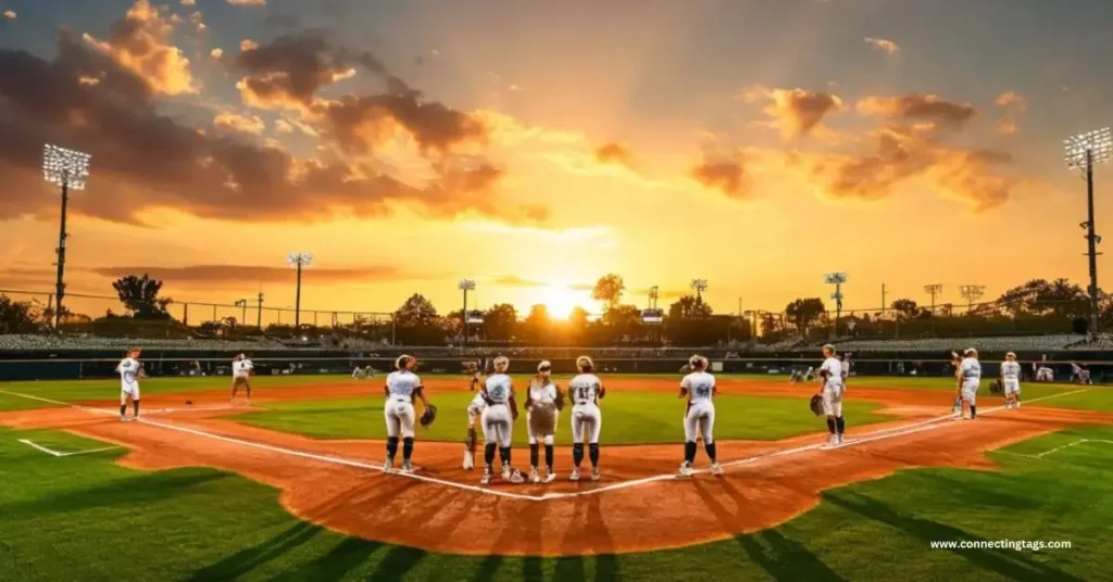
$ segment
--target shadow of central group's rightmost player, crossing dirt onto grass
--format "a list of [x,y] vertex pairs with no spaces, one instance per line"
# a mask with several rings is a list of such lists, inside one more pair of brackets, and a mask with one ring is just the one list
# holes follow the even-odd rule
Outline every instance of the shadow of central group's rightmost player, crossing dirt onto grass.
[[[693,481],[696,492],[711,510],[726,531],[733,529],[732,521],[726,517],[737,517],[743,507],[752,503],[748,501],[738,487],[733,486],[727,479],[716,480],[722,492],[735,501],[737,511],[731,512],[719,502],[713,491],[708,485]],[[844,580],[834,570],[827,566],[816,554],[808,549],[788,537],[785,537],[777,530],[765,530],[749,535],[736,535],[735,542],[754,560],[755,563],[765,569],[774,580],[808,580],[808,581],[841,581]]]

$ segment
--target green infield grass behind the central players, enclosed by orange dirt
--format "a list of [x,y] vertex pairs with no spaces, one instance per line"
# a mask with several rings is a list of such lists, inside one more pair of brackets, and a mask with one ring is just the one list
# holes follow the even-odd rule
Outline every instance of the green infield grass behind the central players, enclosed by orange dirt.
[[[418,440],[463,441],[467,427],[467,404],[474,393],[440,394],[432,398],[437,421],[429,430],[418,428]],[[661,392],[612,392],[602,401],[601,441],[608,445],[682,443],[681,418],[684,402]],[[851,426],[895,420],[877,414],[879,404],[846,402],[844,415]],[[728,396],[715,401],[715,436],[719,440],[778,440],[825,430],[826,425],[807,410],[804,398]],[[565,408],[556,426],[556,444],[571,444],[571,408]],[[234,416],[238,422],[297,433],[315,438],[386,438],[383,398],[344,398],[268,404],[266,412]],[[514,445],[528,444],[525,418],[514,425]]]

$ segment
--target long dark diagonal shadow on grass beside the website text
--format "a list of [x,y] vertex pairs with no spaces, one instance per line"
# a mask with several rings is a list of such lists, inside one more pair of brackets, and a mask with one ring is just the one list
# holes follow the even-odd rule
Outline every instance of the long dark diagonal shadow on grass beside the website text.
[[[864,517],[897,527],[924,542],[928,549],[933,541],[985,541],[985,539],[968,532],[952,527],[939,522],[902,514],[876,499],[853,491],[837,491],[824,494],[824,501]],[[962,505],[956,505],[956,511]],[[1056,568],[1042,564],[1025,558],[1023,552],[1015,550],[949,550],[971,564],[983,570],[992,570],[1009,580],[1065,580],[1082,582],[1081,578],[1071,575]]]

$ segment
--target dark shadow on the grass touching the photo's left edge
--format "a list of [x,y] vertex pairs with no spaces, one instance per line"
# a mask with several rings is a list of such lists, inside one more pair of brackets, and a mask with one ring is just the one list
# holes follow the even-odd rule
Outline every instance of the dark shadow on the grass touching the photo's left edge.
[[35,517],[47,513],[87,511],[115,505],[126,505],[134,509],[137,505],[177,497],[184,489],[204,485],[229,476],[227,473],[217,471],[189,468],[145,473],[112,480],[109,484],[97,487],[50,494],[33,501],[2,505],[0,514],[7,514],[11,517]]

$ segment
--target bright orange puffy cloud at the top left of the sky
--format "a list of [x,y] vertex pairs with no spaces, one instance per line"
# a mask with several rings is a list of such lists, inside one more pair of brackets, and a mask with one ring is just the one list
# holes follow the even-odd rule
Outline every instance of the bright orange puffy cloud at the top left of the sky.
[[[164,7],[165,8],[165,7]],[[174,24],[165,10],[151,7],[148,0],[137,0],[124,20],[112,26],[108,40],[85,34],[86,42],[120,67],[134,72],[157,93],[197,92],[189,59],[170,45]]]

